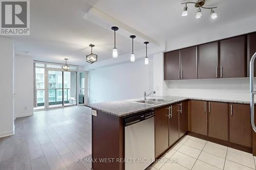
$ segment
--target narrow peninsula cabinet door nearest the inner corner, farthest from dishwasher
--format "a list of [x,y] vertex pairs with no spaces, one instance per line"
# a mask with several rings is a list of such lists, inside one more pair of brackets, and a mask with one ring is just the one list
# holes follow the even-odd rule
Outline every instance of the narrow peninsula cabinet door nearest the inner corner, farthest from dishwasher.
[[187,101],[179,104],[179,137],[187,132]]

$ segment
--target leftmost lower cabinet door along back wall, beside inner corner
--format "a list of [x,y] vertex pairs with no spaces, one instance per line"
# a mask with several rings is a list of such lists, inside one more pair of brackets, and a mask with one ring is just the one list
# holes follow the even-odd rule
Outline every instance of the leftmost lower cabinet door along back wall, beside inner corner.
[[207,102],[190,101],[191,132],[207,135]]

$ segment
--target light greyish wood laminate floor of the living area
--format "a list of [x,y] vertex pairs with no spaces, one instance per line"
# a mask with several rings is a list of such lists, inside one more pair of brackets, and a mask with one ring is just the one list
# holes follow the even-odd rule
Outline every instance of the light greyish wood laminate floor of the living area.
[[91,169],[91,112],[72,106],[16,118],[15,135],[0,138],[0,169]]

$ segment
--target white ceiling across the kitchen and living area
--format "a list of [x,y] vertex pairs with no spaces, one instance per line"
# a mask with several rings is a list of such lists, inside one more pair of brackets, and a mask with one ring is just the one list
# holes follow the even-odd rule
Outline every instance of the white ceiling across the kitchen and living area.
[[[209,10],[202,9],[203,17],[195,19],[196,8],[188,4],[188,16],[182,17],[184,8],[174,0],[31,0],[30,36],[10,36],[15,40],[15,53],[32,56],[34,60],[86,65],[88,45],[95,44],[98,62],[110,59],[114,45],[113,31],[86,20],[83,16],[91,9],[102,12],[125,23],[157,41],[166,41],[184,33],[218,28],[227,22],[255,16],[255,0],[206,0],[205,6],[218,6],[216,20]],[[117,34],[119,55],[131,53],[131,39]],[[135,42],[135,51],[144,44]],[[29,52],[26,54],[25,52]]]

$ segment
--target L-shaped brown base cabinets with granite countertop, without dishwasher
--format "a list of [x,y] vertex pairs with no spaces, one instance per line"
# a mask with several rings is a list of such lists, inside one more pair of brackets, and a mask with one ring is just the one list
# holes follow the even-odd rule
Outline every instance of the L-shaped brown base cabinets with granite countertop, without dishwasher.
[[[93,115],[92,158],[111,159],[111,161],[93,162],[94,170],[130,170],[125,168],[124,159],[127,152],[125,141],[131,143],[131,140],[125,138],[126,120],[143,113],[153,117],[151,112],[155,115],[152,131],[154,138],[152,143],[146,142],[146,144],[153,145],[154,158],[161,157],[185,134],[256,154],[256,135],[250,127],[249,101],[181,96],[147,99],[147,101],[164,101],[150,102],[151,104],[139,103],[140,101],[142,99],[87,105],[92,108]],[[218,122],[220,124],[216,126]],[[148,126],[146,130],[148,129],[152,128]]]

